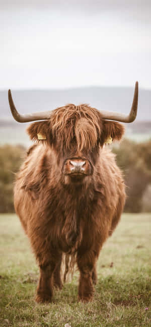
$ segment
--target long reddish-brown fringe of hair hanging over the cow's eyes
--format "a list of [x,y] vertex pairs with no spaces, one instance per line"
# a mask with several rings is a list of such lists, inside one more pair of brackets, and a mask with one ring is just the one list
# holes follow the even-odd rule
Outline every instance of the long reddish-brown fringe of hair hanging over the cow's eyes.
[[100,134],[100,113],[87,104],[68,104],[53,110],[51,115],[52,135],[64,141],[67,149],[90,151],[97,144]]

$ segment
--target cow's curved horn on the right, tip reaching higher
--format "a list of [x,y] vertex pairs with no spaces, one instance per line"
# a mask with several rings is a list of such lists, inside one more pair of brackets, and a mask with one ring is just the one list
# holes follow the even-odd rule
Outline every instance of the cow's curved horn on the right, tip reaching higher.
[[133,97],[133,103],[128,116],[118,112],[102,111],[101,115],[103,119],[117,120],[122,122],[132,122],[135,120],[137,115],[137,103],[138,103],[138,82],[135,83],[135,91]]

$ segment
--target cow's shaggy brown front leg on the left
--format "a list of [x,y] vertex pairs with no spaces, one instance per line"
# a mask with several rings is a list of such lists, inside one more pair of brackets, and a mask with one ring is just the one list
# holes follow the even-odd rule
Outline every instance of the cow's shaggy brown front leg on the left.
[[42,260],[39,259],[40,278],[37,287],[37,302],[50,302],[53,288],[53,272],[57,266],[58,255],[43,254]]

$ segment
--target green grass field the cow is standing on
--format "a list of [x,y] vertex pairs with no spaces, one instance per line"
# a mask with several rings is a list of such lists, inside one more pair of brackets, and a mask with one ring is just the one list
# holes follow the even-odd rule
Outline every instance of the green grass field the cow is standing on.
[[151,214],[123,214],[98,261],[94,300],[78,302],[78,275],[50,304],[34,301],[38,268],[16,215],[0,215],[0,326],[150,327]]

